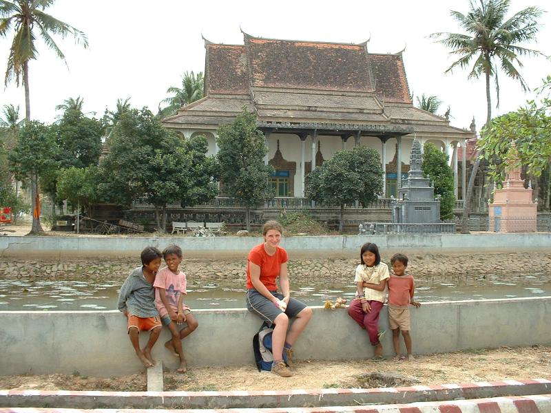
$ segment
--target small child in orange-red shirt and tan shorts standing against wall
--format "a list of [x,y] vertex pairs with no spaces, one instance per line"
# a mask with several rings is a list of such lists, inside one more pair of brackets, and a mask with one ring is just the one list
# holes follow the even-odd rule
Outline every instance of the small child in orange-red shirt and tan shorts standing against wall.
[[409,305],[419,308],[421,304],[413,301],[415,292],[415,282],[411,275],[406,275],[408,266],[408,257],[404,254],[394,254],[391,258],[393,274],[388,280],[388,321],[392,329],[392,342],[396,353],[395,360],[404,360],[405,356],[400,356],[400,330],[406,344],[408,360],[413,360],[411,354],[411,337]]

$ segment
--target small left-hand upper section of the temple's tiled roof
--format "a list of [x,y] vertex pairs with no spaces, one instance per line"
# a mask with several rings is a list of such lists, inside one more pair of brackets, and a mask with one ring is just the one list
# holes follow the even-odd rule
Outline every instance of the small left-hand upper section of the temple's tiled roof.
[[248,94],[245,46],[207,43],[205,94]]

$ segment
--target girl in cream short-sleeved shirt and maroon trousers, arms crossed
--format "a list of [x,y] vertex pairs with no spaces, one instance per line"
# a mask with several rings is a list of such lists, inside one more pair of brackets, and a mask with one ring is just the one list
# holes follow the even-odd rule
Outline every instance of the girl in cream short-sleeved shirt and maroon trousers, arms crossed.
[[386,298],[386,282],[390,277],[388,266],[381,262],[379,248],[373,242],[366,242],[360,250],[360,265],[356,267],[354,282],[356,298],[349,306],[349,315],[365,328],[374,347],[373,360],[383,359],[383,346],[379,339],[379,313]]

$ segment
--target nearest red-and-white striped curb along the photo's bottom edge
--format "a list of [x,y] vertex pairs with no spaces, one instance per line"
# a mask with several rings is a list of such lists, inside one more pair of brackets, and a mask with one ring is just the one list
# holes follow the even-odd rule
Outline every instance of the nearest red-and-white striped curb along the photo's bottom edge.
[[[247,408],[247,409],[194,409],[194,410],[156,410],[157,412],[189,412],[189,413],[330,413],[330,412],[361,412],[361,413],[545,413],[551,411],[551,394],[539,396],[508,396],[490,399],[474,399],[442,402],[420,402],[397,405],[378,406],[327,406],[327,407],[283,407],[283,408]],[[0,408],[4,413],[79,413],[91,410],[54,409],[54,408]],[[151,410],[102,409],[102,413],[147,413]]]

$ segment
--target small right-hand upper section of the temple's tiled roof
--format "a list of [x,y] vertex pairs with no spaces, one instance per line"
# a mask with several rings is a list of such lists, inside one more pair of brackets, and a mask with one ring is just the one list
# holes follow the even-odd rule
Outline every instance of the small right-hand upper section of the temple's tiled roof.
[[406,70],[401,54],[368,54],[375,93],[385,102],[411,103]]

